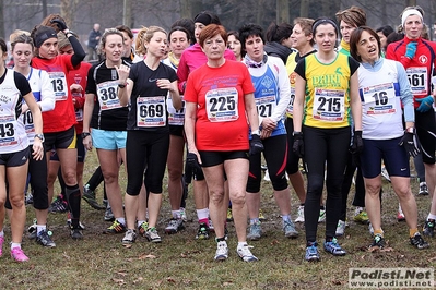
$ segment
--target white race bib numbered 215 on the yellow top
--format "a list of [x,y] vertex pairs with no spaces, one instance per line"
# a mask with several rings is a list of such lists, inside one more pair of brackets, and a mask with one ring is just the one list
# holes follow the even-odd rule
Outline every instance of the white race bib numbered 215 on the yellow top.
[[345,92],[341,89],[315,88],[314,119],[341,122],[345,112]]

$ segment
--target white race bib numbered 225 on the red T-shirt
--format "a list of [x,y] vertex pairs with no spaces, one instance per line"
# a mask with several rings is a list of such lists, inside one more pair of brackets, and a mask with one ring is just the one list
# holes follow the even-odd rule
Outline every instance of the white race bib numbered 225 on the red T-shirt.
[[238,92],[235,87],[209,90],[205,94],[205,105],[211,122],[228,122],[239,118]]

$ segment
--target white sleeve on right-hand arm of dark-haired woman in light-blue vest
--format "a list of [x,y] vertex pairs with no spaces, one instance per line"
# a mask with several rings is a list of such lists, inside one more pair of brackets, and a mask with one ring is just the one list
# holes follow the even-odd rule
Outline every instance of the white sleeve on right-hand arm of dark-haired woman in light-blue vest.
[[279,122],[283,114],[286,112],[286,108],[291,101],[291,84],[290,78],[287,77],[286,68],[284,67],[282,61],[278,61],[275,63],[278,67],[278,81],[279,81],[279,104],[275,106],[274,111],[272,112],[271,119],[275,122]]

